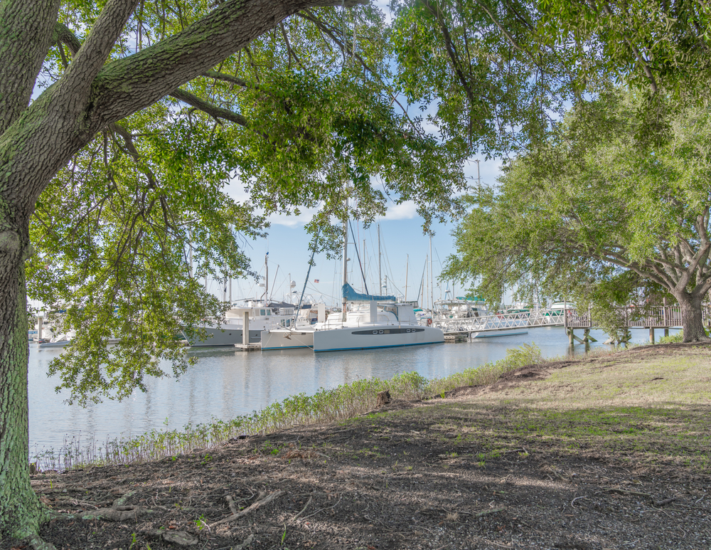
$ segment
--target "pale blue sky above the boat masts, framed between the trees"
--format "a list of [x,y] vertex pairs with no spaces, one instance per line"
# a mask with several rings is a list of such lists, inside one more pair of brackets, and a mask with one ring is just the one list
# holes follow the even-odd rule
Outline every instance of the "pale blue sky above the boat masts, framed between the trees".
[[[493,184],[498,176],[499,161],[481,161],[481,181],[483,184]],[[466,175],[474,183],[476,181],[476,162],[471,161],[465,166]],[[235,181],[228,186],[228,193],[237,200],[244,200],[246,195],[242,191],[239,182]],[[252,260],[252,266],[260,274],[264,275],[264,254],[269,252],[269,295],[274,300],[282,300],[289,292],[289,274],[291,280],[296,282],[296,289],[299,293],[304,287],[306,271],[309,268],[309,235],[304,230],[304,223],[309,221],[312,211],[306,211],[301,216],[274,216],[270,218],[272,223],[269,228],[269,236],[266,239],[259,239],[247,242],[247,255]],[[403,203],[388,205],[385,218],[381,218],[380,223],[380,248],[383,253],[382,273],[387,275],[390,284],[388,292],[396,295],[405,294],[406,265],[409,255],[409,268],[407,269],[407,299],[415,300],[422,281],[425,260],[429,254],[429,237],[422,233],[423,220],[417,216],[415,205]],[[455,228],[454,223],[434,224],[435,235],[432,237],[432,255],[434,264],[435,288],[434,300],[444,296],[447,290],[447,283],[439,287],[437,277],[447,257],[454,253],[454,237],[451,231]],[[353,223],[355,238],[358,239],[358,253],[361,260],[365,260],[366,282],[368,290],[375,293],[378,288],[378,237],[376,224],[367,230],[362,225]],[[363,257],[363,240],[365,239],[365,258]],[[363,290],[363,279],[360,275],[358,260],[355,255],[353,239],[348,248],[349,262],[348,280],[357,290]],[[342,260],[328,260],[326,255],[316,255],[315,265],[311,268],[309,282],[306,285],[306,293],[314,299],[326,301],[328,305],[340,300],[340,289],[342,281]],[[277,265],[278,271],[277,271]],[[429,268],[428,268],[429,269]],[[314,282],[319,280],[318,283]],[[208,288],[216,295],[222,296],[222,287],[217,282],[208,282]],[[261,287],[253,279],[234,280],[232,282],[232,299],[237,300],[242,297],[259,296],[263,292]],[[455,284],[454,294],[461,295],[461,286]],[[420,303],[423,303],[420,297]]]

